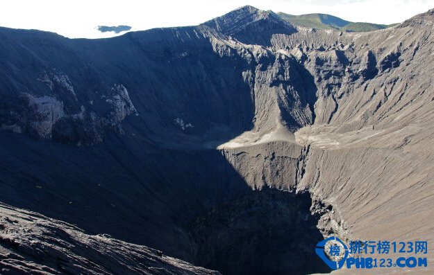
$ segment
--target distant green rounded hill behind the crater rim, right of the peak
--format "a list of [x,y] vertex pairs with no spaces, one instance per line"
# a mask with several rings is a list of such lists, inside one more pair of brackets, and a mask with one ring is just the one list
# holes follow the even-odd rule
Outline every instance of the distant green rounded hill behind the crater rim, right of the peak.
[[294,25],[307,28],[317,28],[319,30],[345,30],[350,33],[381,30],[383,28],[389,28],[396,25],[351,22],[333,15],[325,15],[322,13],[310,13],[308,15],[288,15],[284,12],[276,12],[276,14]]

